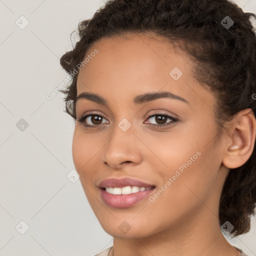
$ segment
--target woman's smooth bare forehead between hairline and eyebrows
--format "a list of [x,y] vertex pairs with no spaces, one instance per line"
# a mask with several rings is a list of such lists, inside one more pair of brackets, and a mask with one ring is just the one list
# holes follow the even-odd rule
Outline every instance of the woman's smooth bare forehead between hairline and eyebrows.
[[192,100],[208,93],[194,79],[189,56],[163,36],[126,33],[102,37],[85,57],[95,49],[98,53],[79,71],[77,95],[88,91],[123,102],[148,91],[168,90]]

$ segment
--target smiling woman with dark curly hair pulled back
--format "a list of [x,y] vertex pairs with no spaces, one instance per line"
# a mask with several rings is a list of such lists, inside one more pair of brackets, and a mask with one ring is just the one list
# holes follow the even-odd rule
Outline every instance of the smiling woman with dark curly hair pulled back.
[[72,156],[113,246],[246,255],[256,201],[256,37],[227,0],[110,0],[60,59]]

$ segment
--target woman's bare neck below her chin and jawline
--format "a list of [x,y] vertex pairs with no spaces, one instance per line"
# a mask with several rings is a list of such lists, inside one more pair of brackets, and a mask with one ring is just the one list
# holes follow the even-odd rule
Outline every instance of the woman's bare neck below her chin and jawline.
[[148,237],[114,237],[109,256],[240,256],[223,236],[218,218],[212,215],[208,213],[193,224],[184,222],[166,227]]

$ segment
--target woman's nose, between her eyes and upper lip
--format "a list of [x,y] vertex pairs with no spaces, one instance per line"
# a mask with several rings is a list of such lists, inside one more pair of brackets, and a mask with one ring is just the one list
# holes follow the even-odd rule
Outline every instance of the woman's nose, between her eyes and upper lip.
[[104,147],[101,160],[116,170],[126,164],[139,164],[143,158],[141,144],[131,127],[123,131],[116,125]]

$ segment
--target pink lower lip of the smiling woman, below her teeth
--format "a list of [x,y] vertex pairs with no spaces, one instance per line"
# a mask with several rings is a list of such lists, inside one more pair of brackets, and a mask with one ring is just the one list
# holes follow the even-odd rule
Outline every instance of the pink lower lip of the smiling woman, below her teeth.
[[136,193],[130,194],[110,194],[102,188],[100,189],[100,195],[103,201],[110,207],[127,208],[148,197],[148,195],[154,189],[155,187],[152,187],[151,189],[148,190],[138,191]]

